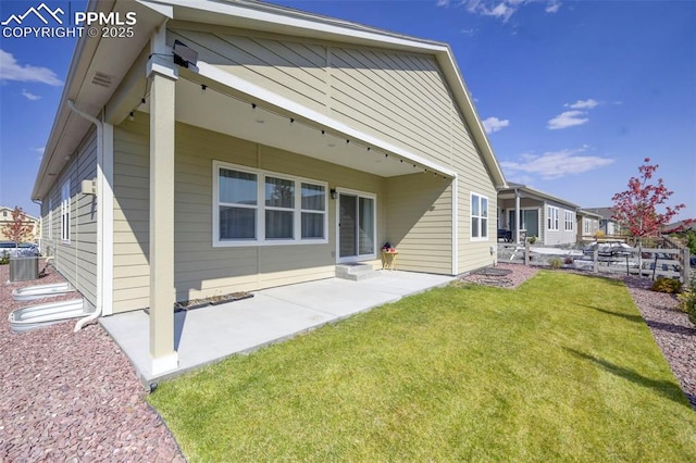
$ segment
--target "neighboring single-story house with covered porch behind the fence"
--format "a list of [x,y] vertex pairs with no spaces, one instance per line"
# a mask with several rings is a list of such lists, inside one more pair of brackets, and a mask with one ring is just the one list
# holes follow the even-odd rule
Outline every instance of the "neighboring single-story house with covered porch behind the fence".
[[[577,240],[577,204],[522,184],[498,189],[498,228],[511,232],[514,242],[526,236],[540,245],[568,245]],[[515,225],[521,224],[518,228]]]

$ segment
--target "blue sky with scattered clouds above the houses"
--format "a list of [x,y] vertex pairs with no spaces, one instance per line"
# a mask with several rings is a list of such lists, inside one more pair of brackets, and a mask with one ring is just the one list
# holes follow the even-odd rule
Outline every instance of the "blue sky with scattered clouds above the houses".
[[[696,217],[696,2],[274,1],[450,43],[508,180],[610,205],[646,157]],[[39,2],[0,2],[0,20]],[[50,8],[84,9],[85,2]],[[75,45],[0,42],[0,204],[30,202]]]

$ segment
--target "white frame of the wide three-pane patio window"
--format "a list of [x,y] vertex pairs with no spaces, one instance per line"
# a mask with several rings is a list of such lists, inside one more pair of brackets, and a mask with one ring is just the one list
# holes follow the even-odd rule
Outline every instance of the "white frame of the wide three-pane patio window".
[[[257,204],[235,204],[235,208],[249,208],[257,211],[256,239],[220,239],[220,170],[244,172],[254,174],[257,176]],[[213,229],[212,246],[213,248],[234,248],[234,247],[256,247],[256,246],[286,246],[286,245],[325,245],[328,242],[328,184],[326,182],[313,178],[298,177],[294,175],[281,174],[273,171],[263,171],[259,168],[248,167],[246,165],[231,164],[222,161],[213,161]],[[293,208],[293,239],[266,239],[265,238],[265,179],[266,177],[282,178],[295,183],[294,208]],[[324,211],[304,210],[302,209],[302,184],[321,186],[324,188]],[[224,203],[223,203],[224,205]],[[268,207],[269,211],[287,210],[285,208]],[[311,212],[324,215],[324,237],[323,238],[304,238],[302,239],[302,212]]]

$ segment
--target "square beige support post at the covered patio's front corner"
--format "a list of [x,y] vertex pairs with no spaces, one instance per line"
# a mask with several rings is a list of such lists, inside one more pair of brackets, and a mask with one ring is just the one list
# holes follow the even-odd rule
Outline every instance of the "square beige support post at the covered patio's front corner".
[[[174,109],[178,68],[162,25],[151,40],[150,84],[150,358],[152,374],[178,366],[174,347]],[[156,54],[157,53],[157,54]]]

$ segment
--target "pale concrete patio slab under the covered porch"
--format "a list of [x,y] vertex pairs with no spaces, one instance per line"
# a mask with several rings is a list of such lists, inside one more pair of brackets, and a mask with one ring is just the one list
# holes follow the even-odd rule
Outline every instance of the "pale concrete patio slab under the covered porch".
[[330,322],[444,286],[453,277],[380,272],[361,281],[338,278],[254,291],[253,298],[174,314],[178,367],[153,375],[149,356],[150,317],[135,311],[100,318],[101,325],[149,385],[187,371],[278,342]]

